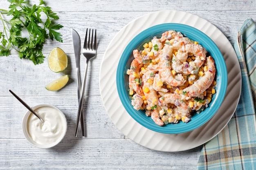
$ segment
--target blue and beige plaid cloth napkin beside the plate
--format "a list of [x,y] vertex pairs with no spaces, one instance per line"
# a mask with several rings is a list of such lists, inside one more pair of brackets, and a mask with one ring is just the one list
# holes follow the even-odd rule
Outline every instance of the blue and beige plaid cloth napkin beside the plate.
[[242,72],[242,92],[227,126],[203,145],[197,170],[256,169],[256,24],[247,19],[234,49]]

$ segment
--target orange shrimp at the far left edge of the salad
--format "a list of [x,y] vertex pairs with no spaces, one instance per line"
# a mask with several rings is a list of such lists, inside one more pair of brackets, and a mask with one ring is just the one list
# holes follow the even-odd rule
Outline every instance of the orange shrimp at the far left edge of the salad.
[[139,77],[136,77],[135,75],[139,76],[139,68],[141,68],[141,64],[139,64],[139,62],[134,59],[132,60],[130,68],[129,88],[134,90],[138,95],[143,95],[141,86],[138,84],[138,81],[135,81],[136,79],[139,79]]

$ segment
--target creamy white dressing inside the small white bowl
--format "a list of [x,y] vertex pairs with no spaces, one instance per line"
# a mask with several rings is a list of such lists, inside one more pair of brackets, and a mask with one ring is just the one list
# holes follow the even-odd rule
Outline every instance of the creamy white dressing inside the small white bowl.
[[27,132],[37,144],[48,145],[58,142],[65,133],[66,119],[59,110],[42,106],[34,110],[43,120],[42,123],[32,113],[27,119]]

